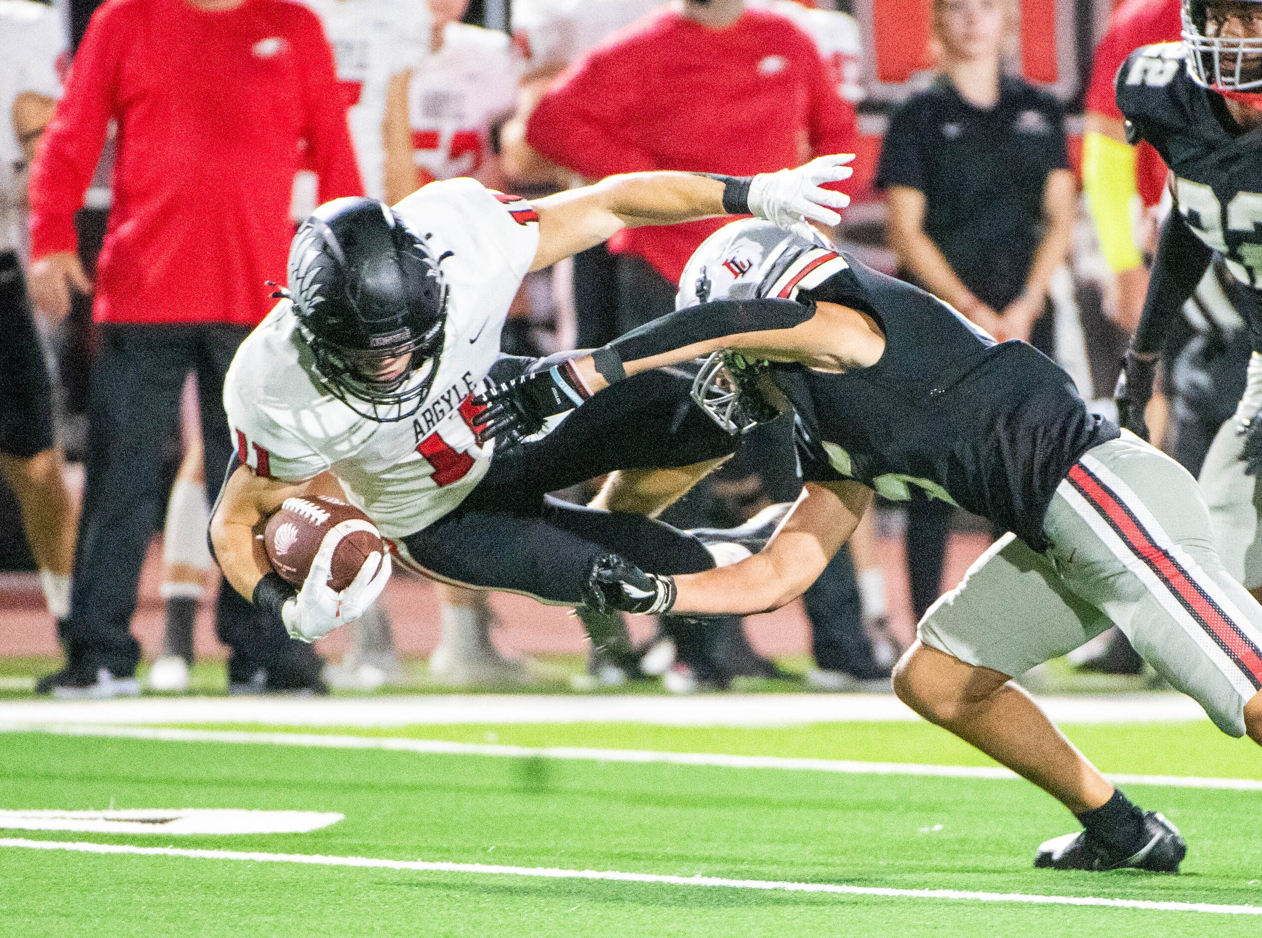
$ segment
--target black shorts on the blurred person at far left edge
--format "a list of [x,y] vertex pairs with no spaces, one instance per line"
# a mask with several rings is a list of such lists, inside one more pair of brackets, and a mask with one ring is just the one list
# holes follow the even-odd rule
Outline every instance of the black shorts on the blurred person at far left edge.
[[13,251],[0,252],[0,453],[29,460],[56,441],[53,381]]

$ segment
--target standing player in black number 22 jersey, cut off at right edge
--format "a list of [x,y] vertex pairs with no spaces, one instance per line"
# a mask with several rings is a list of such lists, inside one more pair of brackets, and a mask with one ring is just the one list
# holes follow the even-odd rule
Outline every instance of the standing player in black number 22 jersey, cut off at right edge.
[[1174,207],[1161,232],[1143,314],[1118,383],[1123,427],[1146,436],[1156,359],[1214,256],[1239,283],[1237,312],[1253,355],[1244,395],[1200,472],[1223,563],[1259,595],[1262,542],[1262,0],[1184,0],[1184,39],[1137,49],[1117,76],[1132,140],[1171,170]]

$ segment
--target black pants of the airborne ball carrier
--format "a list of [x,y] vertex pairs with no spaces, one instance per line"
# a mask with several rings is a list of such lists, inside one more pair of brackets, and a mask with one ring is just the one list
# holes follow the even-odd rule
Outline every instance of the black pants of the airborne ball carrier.
[[620,468],[690,466],[732,453],[689,396],[692,376],[651,371],[613,385],[540,441],[497,452],[469,496],[404,538],[411,561],[454,583],[578,605],[592,562],[615,552],[654,573],[714,566],[704,545],[661,521],[570,505],[548,492]]

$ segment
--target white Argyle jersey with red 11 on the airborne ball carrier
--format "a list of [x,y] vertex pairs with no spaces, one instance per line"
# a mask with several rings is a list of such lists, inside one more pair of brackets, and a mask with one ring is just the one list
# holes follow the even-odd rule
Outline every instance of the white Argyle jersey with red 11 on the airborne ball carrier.
[[395,206],[427,237],[448,284],[447,327],[429,396],[410,418],[377,423],[334,396],[314,370],[289,300],[241,343],[223,386],[239,458],[288,482],[326,470],[387,538],[454,509],[486,475],[469,398],[500,351],[509,304],[535,258],[538,216],[475,179],[425,186]]

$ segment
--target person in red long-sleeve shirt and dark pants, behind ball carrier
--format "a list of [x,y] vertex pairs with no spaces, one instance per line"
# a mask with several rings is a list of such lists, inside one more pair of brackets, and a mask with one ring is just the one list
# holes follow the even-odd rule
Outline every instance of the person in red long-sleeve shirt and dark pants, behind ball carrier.
[[[110,121],[114,202],[90,284],[74,212]],[[83,515],[58,696],[135,693],[136,582],[164,495],[159,463],[189,371],[206,477],[232,454],[221,400],[236,346],[284,282],[294,174],[321,198],[361,194],[333,54],[289,0],[109,0],[92,16],[32,170],[32,298],[49,318],[91,289],[92,366]],[[318,687],[319,659],[220,592],[230,688]]]

